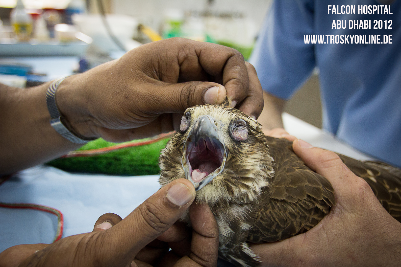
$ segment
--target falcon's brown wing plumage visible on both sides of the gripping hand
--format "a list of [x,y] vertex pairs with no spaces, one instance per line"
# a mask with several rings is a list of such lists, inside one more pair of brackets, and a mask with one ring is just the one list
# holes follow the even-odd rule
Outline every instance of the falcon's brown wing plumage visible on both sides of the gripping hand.
[[[252,243],[274,242],[314,227],[334,203],[334,190],[324,177],[310,170],[292,150],[292,142],[266,137],[274,159],[275,177],[256,208]],[[361,162],[338,154],[345,165],[363,178],[377,199],[401,222],[401,169],[386,163]]]

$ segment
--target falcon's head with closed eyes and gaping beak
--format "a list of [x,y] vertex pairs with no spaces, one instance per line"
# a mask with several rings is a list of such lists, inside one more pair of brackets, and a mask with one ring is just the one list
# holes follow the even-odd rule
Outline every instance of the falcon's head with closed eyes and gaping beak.
[[273,177],[261,124],[226,101],[188,108],[160,155],[160,184],[186,178],[196,201],[249,203]]

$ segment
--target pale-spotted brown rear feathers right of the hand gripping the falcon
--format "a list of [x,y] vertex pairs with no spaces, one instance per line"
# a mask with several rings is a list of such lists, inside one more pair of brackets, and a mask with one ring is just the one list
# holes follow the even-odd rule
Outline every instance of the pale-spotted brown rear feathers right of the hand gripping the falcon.
[[375,161],[357,161],[338,154],[347,167],[372,188],[381,205],[401,222],[401,169]]

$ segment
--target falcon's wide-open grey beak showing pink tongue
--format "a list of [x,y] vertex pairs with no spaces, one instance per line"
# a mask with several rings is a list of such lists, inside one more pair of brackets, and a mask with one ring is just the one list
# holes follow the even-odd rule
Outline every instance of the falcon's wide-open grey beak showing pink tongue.
[[198,191],[223,171],[226,159],[215,119],[209,115],[198,118],[184,144],[181,163],[186,179]]

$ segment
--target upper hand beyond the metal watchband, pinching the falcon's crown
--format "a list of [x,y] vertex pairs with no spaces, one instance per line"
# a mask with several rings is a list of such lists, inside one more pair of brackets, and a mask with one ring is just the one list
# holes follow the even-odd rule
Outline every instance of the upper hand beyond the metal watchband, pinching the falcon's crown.
[[263,93],[253,66],[232,48],[170,38],[66,78],[56,99],[75,132],[122,142],[179,128],[186,108],[226,96],[259,116]]

